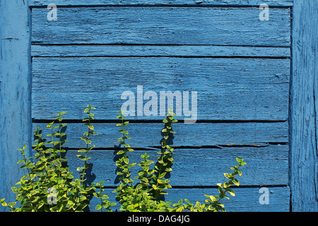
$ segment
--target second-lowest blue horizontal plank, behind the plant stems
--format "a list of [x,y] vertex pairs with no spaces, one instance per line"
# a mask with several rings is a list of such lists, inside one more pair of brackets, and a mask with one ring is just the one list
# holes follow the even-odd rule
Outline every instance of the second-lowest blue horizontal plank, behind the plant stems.
[[[129,162],[140,162],[144,153],[156,162],[158,150],[134,150],[129,153]],[[118,185],[115,161],[116,150],[91,150],[88,169],[88,182],[104,181],[105,186]],[[68,150],[69,170],[74,177],[79,175],[76,169],[83,165],[78,160],[77,150]],[[288,184],[288,145],[269,145],[263,148],[229,147],[229,148],[176,148],[173,154],[170,184],[172,186],[216,186],[225,182],[225,172],[237,162],[235,157],[244,158],[247,165],[242,169],[242,185],[282,185]],[[151,166],[153,167],[153,165]],[[141,167],[132,167],[132,178],[136,177]]]

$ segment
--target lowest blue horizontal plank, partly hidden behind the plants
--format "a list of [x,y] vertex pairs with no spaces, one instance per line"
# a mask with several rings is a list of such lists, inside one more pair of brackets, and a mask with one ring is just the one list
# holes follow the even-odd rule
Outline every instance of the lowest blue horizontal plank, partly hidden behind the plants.
[[[231,187],[232,188],[232,187]],[[225,210],[228,212],[288,212],[290,201],[290,188],[288,186],[273,186],[269,187],[269,204],[259,203],[259,198],[262,193],[259,193],[260,187],[235,187],[232,190],[235,196],[230,196],[230,200],[224,199],[223,204]],[[116,194],[112,193],[114,189],[105,189],[104,194],[109,196],[109,201],[117,203]],[[217,195],[217,189],[210,188],[175,188],[167,190],[168,194],[165,196],[166,201],[177,203],[180,199],[187,198],[192,203],[200,201],[204,203],[207,195]],[[90,211],[96,211],[95,206],[100,204],[100,199],[93,197],[90,201]],[[119,204],[113,207],[113,210],[119,211]]]

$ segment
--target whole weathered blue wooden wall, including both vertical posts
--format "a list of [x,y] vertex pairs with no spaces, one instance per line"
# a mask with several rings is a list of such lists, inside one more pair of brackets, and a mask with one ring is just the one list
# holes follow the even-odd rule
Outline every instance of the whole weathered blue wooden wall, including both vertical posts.
[[[76,172],[91,103],[100,135],[92,139],[89,181],[104,180],[114,200],[114,119],[122,93],[143,85],[144,93],[198,93],[196,123],[174,127],[167,199],[204,201],[242,157],[247,165],[228,211],[318,210],[317,2],[8,2],[1,1],[0,24],[1,197],[13,198],[10,187],[23,173],[16,148],[30,145],[32,128],[45,129],[54,112],[68,112],[67,155]],[[57,20],[47,18],[51,3]],[[260,20],[261,4],[269,5],[269,20]],[[15,10],[23,16],[12,16]],[[132,160],[145,151],[156,159],[162,118],[128,117]],[[269,189],[268,204],[259,202],[261,187]]]

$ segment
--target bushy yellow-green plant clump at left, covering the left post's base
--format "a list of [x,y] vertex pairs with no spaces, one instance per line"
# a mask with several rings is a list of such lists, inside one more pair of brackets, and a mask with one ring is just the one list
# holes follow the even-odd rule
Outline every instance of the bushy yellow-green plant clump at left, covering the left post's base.
[[[78,153],[85,154],[78,155],[78,158],[84,161],[83,167],[78,167],[80,178],[73,180],[73,172],[69,171],[67,164],[68,159],[63,155],[66,153],[63,145],[67,141],[64,139],[66,134],[63,129],[66,124],[62,123],[62,115],[66,112],[56,113],[58,116],[56,121],[47,124],[47,128],[51,131],[47,134],[49,141],[43,138],[42,129],[35,128],[33,148],[37,153],[34,157],[25,158],[26,145],[19,149],[23,159],[19,160],[18,164],[22,164],[20,168],[27,169],[28,174],[25,174],[16,184],[18,187],[11,189],[17,194],[16,201],[20,205],[16,207],[16,202],[6,203],[4,199],[1,199],[2,206],[8,206],[13,212],[73,212],[85,210],[93,195],[105,198],[101,194],[102,190],[95,192],[95,184],[85,184],[86,169],[89,167],[88,160],[90,160],[87,155],[94,148],[94,145],[90,146],[90,136],[97,135],[93,131],[93,125],[90,124],[93,119],[92,109],[95,108],[88,105],[88,108],[84,110],[88,114],[88,117],[83,119],[86,121],[85,125],[88,127],[88,131],[81,137],[86,142],[86,149],[78,150]],[[102,202],[102,208],[106,210],[110,210],[110,206],[114,205],[115,203]]]

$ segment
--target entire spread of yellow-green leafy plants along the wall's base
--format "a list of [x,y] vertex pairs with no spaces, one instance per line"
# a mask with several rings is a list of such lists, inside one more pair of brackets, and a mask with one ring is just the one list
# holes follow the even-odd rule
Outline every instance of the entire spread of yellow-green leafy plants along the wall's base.
[[[115,206],[116,203],[108,201],[108,196],[103,194],[105,191],[103,182],[96,184],[86,182],[86,173],[90,167],[88,153],[95,148],[90,138],[98,135],[91,124],[95,119],[92,113],[94,109],[95,107],[91,105],[84,109],[84,112],[88,115],[83,119],[87,131],[83,133],[81,140],[85,142],[86,148],[78,150],[77,157],[83,161],[83,166],[77,168],[79,178],[74,179],[73,172],[69,171],[66,148],[64,148],[64,143],[67,142],[64,139],[66,136],[64,131],[67,125],[62,123],[62,116],[66,112],[59,112],[56,113],[55,121],[47,124],[47,128],[50,130],[50,133],[47,134],[48,141],[47,138],[43,138],[42,129],[35,128],[35,145],[33,145],[33,148],[37,153],[33,157],[25,157],[26,145],[19,149],[23,156],[23,159],[18,161],[18,164],[22,164],[19,167],[26,169],[27,172],[16,184],[18,186],[11,188],[16,193],[16,202],[19,202],[19,206],[16,206],[16,202],[6,203],[4,199],[1,199],[2,206],[11,208],[13,212],[84,211],[88,208],[90,198],[95,196],[100,199],[100,204],[95,206],[96,210],[112,211],[112,206]],[[236,177],[242,175],[240,167],[246,164],[239,158],[236,159],[238,165],[230,168],[233,172],[224,174],[228,182],[218,184],[218,195],[205,195],[207,197],[205,203],[196,201],[194,204],[186,198],[184,198],[184,201],[179,200],[177,203],[163,201],[163,196],[172,187],[169,184],[170,180],[165,177],[168,172],[172,172],[172,163],[174,162],[172,157],[174,148],[167,144],[171,133],[175,133],[172,130],[172,124],[177,122],[174,116],[175,114],[169,110],[167,117],[163,120],[165,127],[162,132],[164,135],[161,141],[161,150],[158,151],[157,162],[149,160],[150,156],[144,153],[141,155],[141,162],[137,164],[129,162],[129,153],[134,152],[134,149],[127,143],[131,139],[128,136],[129,132],[126,130],[129,121],[125,121],[126,117],[124,117],[123,112],[118,113],[117,118],[121,123],[117,126],[120,127],[119,133],[122,133],[122,136],[118,139],[121,148],[117,152],[116,166],[119,169],[117,175],[120,183],[113,192],[120,204],[120,210],[129,212],[225,211],[224,205],[221,203],[222,199],[229,198],[228,194],[235,196],[230,186],[239,186]],[[153,164],[154,167],[151,169]],[[134,177],[135,182],[131,176],[131,168],[136,165],[141,169],[138,175]]]

